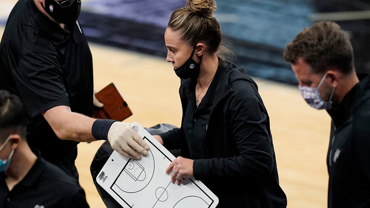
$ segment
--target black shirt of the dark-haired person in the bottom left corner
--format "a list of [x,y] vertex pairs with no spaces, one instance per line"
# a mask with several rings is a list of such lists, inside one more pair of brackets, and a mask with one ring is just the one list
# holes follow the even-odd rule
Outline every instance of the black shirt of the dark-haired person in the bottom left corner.
[[40,157],[23,178],[9,191],[6,174],[0,172],[1,208],[88,208],[85,192],[78,181]]

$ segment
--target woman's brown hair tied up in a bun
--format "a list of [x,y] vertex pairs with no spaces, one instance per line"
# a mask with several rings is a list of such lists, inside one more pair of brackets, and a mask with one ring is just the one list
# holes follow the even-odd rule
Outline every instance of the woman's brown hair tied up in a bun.
[[204,42],[209,54],[216,54],[221,62],[225,62],[234,54],[221,44],[220,24],[213,15],[216,9],[215,0],[188,0],[185,7],[176,9],[172,13],[168,27],[174,31],[180,30],[181,40],[191,47]]

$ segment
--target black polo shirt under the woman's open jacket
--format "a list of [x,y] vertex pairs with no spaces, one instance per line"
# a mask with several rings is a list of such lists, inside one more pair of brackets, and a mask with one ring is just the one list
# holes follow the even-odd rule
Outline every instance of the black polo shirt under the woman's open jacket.
[[[189,151],[192,160],[203,159],[204,142],[208,128],[209,115],[211,115],[212,103],[215,98],[217,84],[219,83],[223,68],[218,67],[213,80],[209,84],[208,90],[204,95],[198,108],[196,107],[196,80],[191,81],[191,90],[185,95],[188,98],[188,106],[184,118],[184,132],[188,141]],[[202,89],[199,89],[202,91]]]

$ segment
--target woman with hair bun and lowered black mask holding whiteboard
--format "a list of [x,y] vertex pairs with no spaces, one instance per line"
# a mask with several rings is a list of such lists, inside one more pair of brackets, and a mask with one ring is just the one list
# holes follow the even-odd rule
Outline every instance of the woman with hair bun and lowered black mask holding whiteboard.
[[188,0],[165,32],[166,60],[181,78],[181,128],[155,138],[181,149],[166,170],[172,182],[201,180],[223,207],[286,207],[269,116],[256,83],[226,60],[214,0]]

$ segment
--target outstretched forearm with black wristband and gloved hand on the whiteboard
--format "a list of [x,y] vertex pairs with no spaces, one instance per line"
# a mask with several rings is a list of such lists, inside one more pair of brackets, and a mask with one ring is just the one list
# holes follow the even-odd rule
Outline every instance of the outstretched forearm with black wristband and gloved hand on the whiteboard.
[[95,120],[71,112],[70,107],[61,105],[42,113],[55,134],[62,140],[88,142],[108,140],[112,149],[124,157],[141,159],[147,155],[148,144],[128,123],[114,120]]

